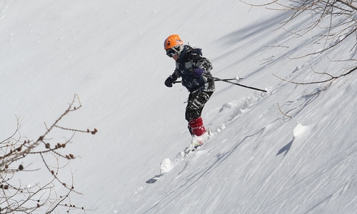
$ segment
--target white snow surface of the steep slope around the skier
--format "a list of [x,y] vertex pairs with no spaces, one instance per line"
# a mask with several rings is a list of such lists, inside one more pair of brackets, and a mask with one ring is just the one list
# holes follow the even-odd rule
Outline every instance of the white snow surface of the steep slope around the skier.
[[[279,28],[288,17],[241,1],[0,1],[0,138],[19,116],[35,140],[76,93],[82,108],[59,125],[99,131],[66,146],[82,193],[71,202],[85,213],[355,213],[356,73],[276,78],[338,76],[355,41],[300,58],[336,41],[314,43],[324,29],[290,34],[311,16]],[[178,162],[191,136],[186,88],[164,86],[170,34],[202,48],[213,76],[268,91],[216,82],[202,114],[215,136]],[[146,184],[164,160],[169,172]]]

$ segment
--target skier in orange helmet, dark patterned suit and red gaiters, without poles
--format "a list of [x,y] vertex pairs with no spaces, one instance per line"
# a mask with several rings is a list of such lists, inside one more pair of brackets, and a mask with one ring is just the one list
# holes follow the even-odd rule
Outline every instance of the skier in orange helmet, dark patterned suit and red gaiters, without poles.
[[186,121],[191,133],[192,141],[186,151],[201,146],[208,140],[208,133],[203,126],[201,113],[203,106],[215,91],[214,80],[211,76],[213,68],[211,62],[201,56],[201,49],[183,45],[183,41],[177,34],[169,36],[164,42],[166,55],[174,58],[176,69],[166,79],[165,85],[172,87],[177,78],[182,78],[182,85],[189,92],[186,106]]

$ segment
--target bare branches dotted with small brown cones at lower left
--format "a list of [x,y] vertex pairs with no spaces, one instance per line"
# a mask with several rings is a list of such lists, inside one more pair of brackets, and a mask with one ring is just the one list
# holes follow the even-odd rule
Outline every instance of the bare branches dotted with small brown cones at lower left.
[[[96,128],[94,128],[94,131],[89,131],[89,129],[80,130],[57,125],[64,116],[79,108],[81,108],[81,101],[79,101],[79,96],[75,94],[73,101],[69,103],[69,108],[67,108],[51,126],[47,127],[45,125],[46,132],[39,136],[36,141],[30,141],[28,139],[21,141],[21,135],[19,135],[19,138],[14,138],[16,134],[19,134],[20,129],[19,117],[16,117],[16,131],[9,138],[0,142],[1,214],[32,213],[34,210],[39,210],[44,207],[48,207],[46,213],[52,213],[59,208],[66,208],[67,213],[74,209],[84,210],[83,207],[77,208],[69,200],[71,193],[81,193],[74,190],[74,173],[71,173],[71,185],[67,185],[66,182],[64,182],[66,179],[63,178],[64,175],[62,175],[63,173],[61,172],[69,167],[71,160],[76,158],[76,156],[69,152],[64,153],[64,148],[71,142],[74,133],[81,132],[95,134],[97,130]],[[71,137],[64,143],[51,142],[52,138],[49,137],[49,134],[54,128],[71,131]],[[41,161],[36,163],[42,163],[43,168],[31,169],[31,164],[26,163],[29,160],[29,156],[31,156],[31,160],[34,160],[36,157],[40,158]],[[20,160],[21,163],[19,163]],[[54,161],[56,164],[51,165]],[[19,177],[17,175],[19,173],[41,173],[41,176],[38,177],[39,180],[34,180],[36,185],[24,186],[21,183],[21,180],[15,179]],[[66,193],[56,193],[54,188],[57,185],[60,185],[62,189],[56,188],[56,190],[64,191]],[[65,201],[67,201],[67,203],[65,203]]]

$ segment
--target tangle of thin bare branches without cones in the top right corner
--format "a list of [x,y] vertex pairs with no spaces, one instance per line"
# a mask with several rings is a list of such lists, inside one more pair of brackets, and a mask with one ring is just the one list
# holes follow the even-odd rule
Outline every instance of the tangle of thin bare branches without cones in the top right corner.
[[[272,9],[274,6],[276,6],[277,8],[274,8],[274,10],[292,11],[290,18],[286,21],[283,21],[281,25],[281,28],[283,29],[286,29],[286,25],[291,23],[291,21],[298,19],[298,17],[302,16],[303,14],[311,14],[311,19],[309,21],[305,21],[300,29],[294,30],[293,32],[291,32],[291,34],[304,36],[305,34],[316,28],[325,30],[324,33],[316,37],[315,42],[315,44],[318,44],[318,41],[323,41],[324,46],[321,51],[314,51],[313,53],[294,57],[293,59],[303,58],[306,56],[311,56],[313,54],[321,54],[325,51],[335,49],[336,46],[342,44],[344,41],[346,41],[346,39],[350,38],[353,35],[356,35],[356,1],[289,0],[288,3],[286,3],[286,1],[283,1],[283,3],[281,3],[282,1],[280,0],[271,0],[265,4],[253,4],[246,1],[248,0],[242,2],[250,6],[264,6],[266,8],[269,6]],[[357,46],[357,36],[355,37],[356,42],[354,47]]]

